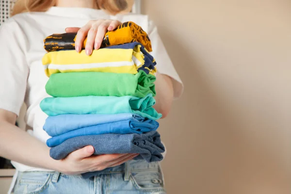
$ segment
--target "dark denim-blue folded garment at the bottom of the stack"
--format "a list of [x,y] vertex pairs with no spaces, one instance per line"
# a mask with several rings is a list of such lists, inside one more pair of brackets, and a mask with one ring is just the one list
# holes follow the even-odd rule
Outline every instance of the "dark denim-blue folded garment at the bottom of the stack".
[[49,155],[55,160],[61,160],[69,153],[89,145],[94,147],[95,155],[138,153],[134,160],[146,162],[162,161],[162,153],[165,151],[160,134],[157,131],[150,131],[142,134],[111,133],[74,137],[50,148]]

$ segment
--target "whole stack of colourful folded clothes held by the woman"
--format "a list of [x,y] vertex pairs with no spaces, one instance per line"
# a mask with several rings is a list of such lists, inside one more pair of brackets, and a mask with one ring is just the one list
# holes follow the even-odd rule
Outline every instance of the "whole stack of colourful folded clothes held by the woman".
[[105,34],[103,48],[91,56],[74,50],[75,37],[45,39],[48,53],[42,62],[52,97],[40,107],[49,115],[43,129],[51,136],[50,156],[61,160],[91,145],[95,155],[138,153],[134,160],[161,161],[164,146],[156,120],[162,114],[152,107],[156,62],[146,32],[123,23]]

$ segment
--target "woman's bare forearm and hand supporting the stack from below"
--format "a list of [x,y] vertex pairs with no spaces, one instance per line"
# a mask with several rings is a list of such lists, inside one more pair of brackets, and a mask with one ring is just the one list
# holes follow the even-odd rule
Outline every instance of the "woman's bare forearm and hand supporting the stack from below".
[[93,146],[86,146],[70,153],[63,160],[53,160],[49,156],[50,148],[45,143],[15,126],[16,117],[15,113],[0,109],[0,156],[25,165],[75,175],[118,166],[138,155],[97,156],[93,155]]

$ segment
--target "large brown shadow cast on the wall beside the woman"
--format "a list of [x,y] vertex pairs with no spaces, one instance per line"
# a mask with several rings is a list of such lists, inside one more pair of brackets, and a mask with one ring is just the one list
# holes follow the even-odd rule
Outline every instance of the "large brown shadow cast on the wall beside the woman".
[[[159,23],[164,19],[168,18],[159,17]],[[271,194],[278,185],[285,190],[278,162],[270,157],[272,150],[260,147],[256,137],[244,132],[242,121],[210,83],[201,66],[205,63],[171,32],[171,26],[159,26],[185,90],[160,122],[167,146],[162,166],[168,193]]]

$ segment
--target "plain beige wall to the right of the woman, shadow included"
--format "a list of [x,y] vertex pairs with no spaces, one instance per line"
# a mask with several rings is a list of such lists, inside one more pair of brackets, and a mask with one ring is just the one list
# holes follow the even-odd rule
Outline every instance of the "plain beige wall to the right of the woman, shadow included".
[[290,194],[291,2],[142,7],[185,84],[160,128],[168,193]]

